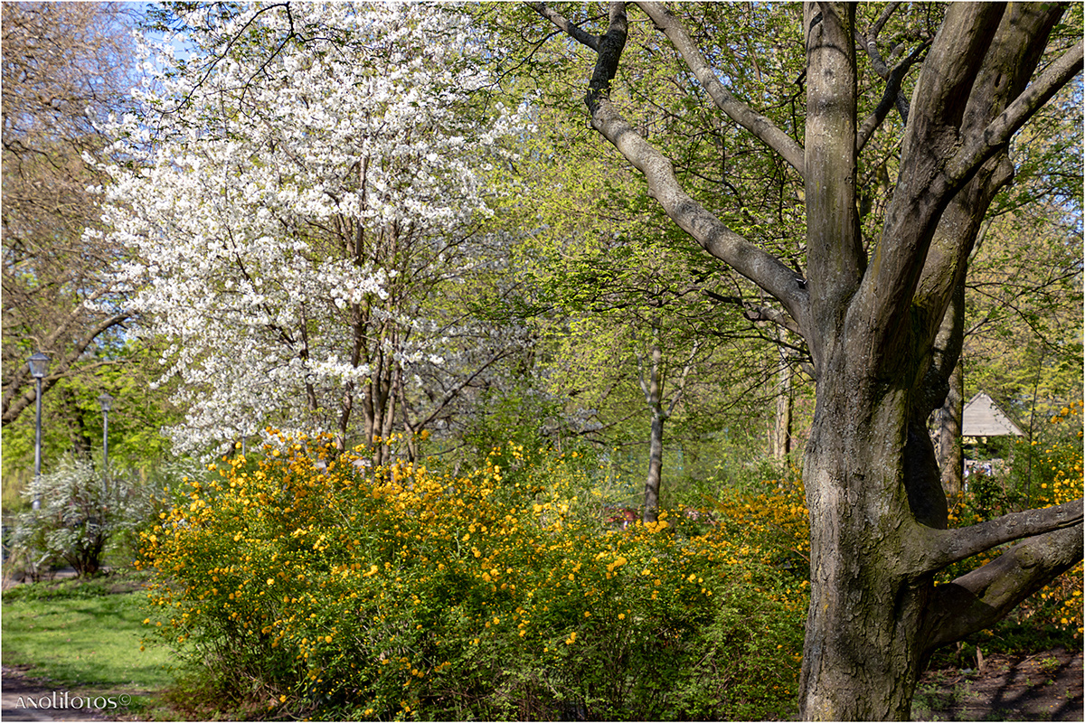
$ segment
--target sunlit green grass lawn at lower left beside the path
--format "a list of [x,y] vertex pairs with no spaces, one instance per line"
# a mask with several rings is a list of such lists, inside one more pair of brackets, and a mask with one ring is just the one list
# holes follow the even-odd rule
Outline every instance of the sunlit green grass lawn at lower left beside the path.
[[153,694],[174,677],[168,650],[140,650],[145,599],[138,581],[114,576],[5,591],[4,663],[28,666],[27,674],[51,679],[58,690],[130,694],[128,712],[148,716]]

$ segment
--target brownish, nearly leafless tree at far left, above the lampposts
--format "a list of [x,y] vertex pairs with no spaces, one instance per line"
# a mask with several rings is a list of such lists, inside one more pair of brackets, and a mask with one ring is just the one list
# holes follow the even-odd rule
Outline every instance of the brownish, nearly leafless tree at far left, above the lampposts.
[[[118,249],[82,232],[97,224],[85,160],[105,144],[95,129],[126,106],[133,52],[120,3],[4,3],[3,395],[7,427],[34,403],[26,359],[52,357],[42,390],[111,363],[128,319],[106,280]],[[74,416],[73,412],[69,416]]]

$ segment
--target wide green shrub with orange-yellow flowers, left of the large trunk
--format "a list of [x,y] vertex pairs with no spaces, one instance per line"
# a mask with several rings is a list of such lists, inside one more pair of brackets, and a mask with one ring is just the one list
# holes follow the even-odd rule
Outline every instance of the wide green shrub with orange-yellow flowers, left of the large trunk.
[[507,446],[454,476],[282,438],[144,533],[146,625],[268,718],[787,714],[801,491],[618,530],[582,462]]

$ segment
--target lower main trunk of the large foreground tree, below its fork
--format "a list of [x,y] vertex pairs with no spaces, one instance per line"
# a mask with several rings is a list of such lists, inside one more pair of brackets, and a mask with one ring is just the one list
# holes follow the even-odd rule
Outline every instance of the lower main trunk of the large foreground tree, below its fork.
[[[826,524],[810,529],[805,719],[909,716],[932,578],[902,555],[916,517],[908,482],[937,479],[930,440],[909,435],[909,416],[903,389],[878,391],[847,376],[818,386],[804,481],[812,520]],[[936,509],[923,514],[945,526],[944,505],[941,520]]]

